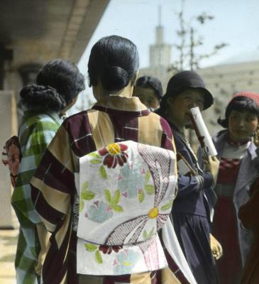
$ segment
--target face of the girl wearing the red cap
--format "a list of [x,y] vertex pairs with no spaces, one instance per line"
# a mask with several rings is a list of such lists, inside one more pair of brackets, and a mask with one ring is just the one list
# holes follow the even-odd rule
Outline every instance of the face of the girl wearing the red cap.
[[232,110],[228,117],[228,131],[235,141],[244,141],[258,128],[258,116],[249,111]]

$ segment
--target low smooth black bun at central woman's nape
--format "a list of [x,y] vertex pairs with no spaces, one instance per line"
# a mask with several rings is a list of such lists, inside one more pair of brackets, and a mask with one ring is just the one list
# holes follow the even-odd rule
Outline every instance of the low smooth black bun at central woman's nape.
[[101,84],[108,91],[123,89],[129,81],[128,72],[119,66],[106,67],[101,77]]

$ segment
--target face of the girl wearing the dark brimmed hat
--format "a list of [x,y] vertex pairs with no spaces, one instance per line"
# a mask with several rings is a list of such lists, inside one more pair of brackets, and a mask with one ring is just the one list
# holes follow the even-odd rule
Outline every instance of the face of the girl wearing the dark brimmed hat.
[[204,108],[204,94],[199,89],[187,89],[177,97],[167,100],[172,122],[178,126],[190,124],[189,109],[199,107],[200,111]]

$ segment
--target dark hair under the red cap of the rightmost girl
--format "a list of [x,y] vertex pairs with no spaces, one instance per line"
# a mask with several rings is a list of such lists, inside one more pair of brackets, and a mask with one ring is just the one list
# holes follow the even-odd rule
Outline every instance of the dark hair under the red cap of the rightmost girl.
[[249,111],[252,114],[256,114],[259,116],[259,107],[258,104],[256,104],[253,99],[250,99],[248,97],[234,97],[231,102],[226,107],[225,112],[225,119],[221,119],[219,117],[218,124],[221,125],[224,128],[228,128],[228,119],[231,114],[231,111]]

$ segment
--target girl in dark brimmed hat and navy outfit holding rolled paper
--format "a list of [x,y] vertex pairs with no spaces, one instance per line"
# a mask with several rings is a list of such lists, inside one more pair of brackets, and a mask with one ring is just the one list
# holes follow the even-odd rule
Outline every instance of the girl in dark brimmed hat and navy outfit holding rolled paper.
[[[216,181],[219,161],[209,157],[206,170],[199,168],[197,158],[184,136],[189,126],[189,109],[208,109],[214,99],[194,71],[182,71],[167,84],[158,114],[171,126],[177,150],[178,194],[172,207],[175,233],[197,283],[217,283],[210,246],[210,207],[206,193]],[[212,192],[213,193],[213,192]]]

